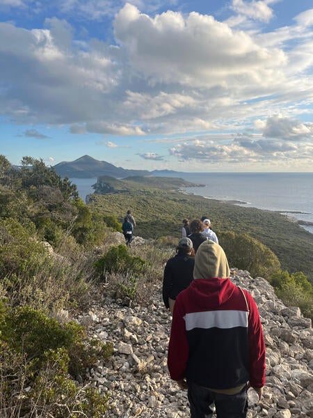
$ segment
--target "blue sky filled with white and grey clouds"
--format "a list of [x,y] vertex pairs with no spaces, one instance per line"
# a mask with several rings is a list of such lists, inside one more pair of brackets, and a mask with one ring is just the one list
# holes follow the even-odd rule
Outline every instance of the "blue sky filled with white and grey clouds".
[[312,0],[0,0],[0,154],[313,171]]

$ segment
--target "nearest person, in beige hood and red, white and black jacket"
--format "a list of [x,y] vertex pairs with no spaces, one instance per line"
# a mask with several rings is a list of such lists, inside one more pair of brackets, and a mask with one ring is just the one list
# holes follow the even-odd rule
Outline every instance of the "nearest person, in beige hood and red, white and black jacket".
[[235,286],[211,240],[195,255],[191,285],[177,295],[168,346],[170,378],[188,389],[191,418],[245,418],[247,389],[262,398],[265,346],[257,305]]

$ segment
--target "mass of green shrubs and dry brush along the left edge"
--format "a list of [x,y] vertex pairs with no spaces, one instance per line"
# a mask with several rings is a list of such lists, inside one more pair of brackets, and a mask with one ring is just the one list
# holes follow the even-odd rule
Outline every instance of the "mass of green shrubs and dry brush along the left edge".
[[[41,160],[0,156],[0,410],[3,417],[101,417],[107,397],[74,378],[113,348],[60,313],[83,307],[90,249],[111,229]],[[2,416],[2,415],[1,415]]]

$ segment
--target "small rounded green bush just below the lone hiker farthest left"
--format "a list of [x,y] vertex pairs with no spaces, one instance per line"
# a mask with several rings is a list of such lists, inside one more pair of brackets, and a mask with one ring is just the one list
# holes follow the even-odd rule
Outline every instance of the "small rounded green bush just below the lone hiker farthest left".
[[132,276],[141,274],[146,267],[141,257],[131,256],[124,244],[113,246],[95,262],[95,270],[100,279],[104,279],[106,272],[129,273]]

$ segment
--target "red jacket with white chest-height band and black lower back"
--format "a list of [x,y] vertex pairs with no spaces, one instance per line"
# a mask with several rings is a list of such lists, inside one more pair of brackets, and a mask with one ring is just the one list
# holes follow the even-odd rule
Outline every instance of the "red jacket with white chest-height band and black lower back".
[[264,337],[250,293],[230,279],[194,279],[175,302],[168,369],[173,380],[210,389],[264,386]]

